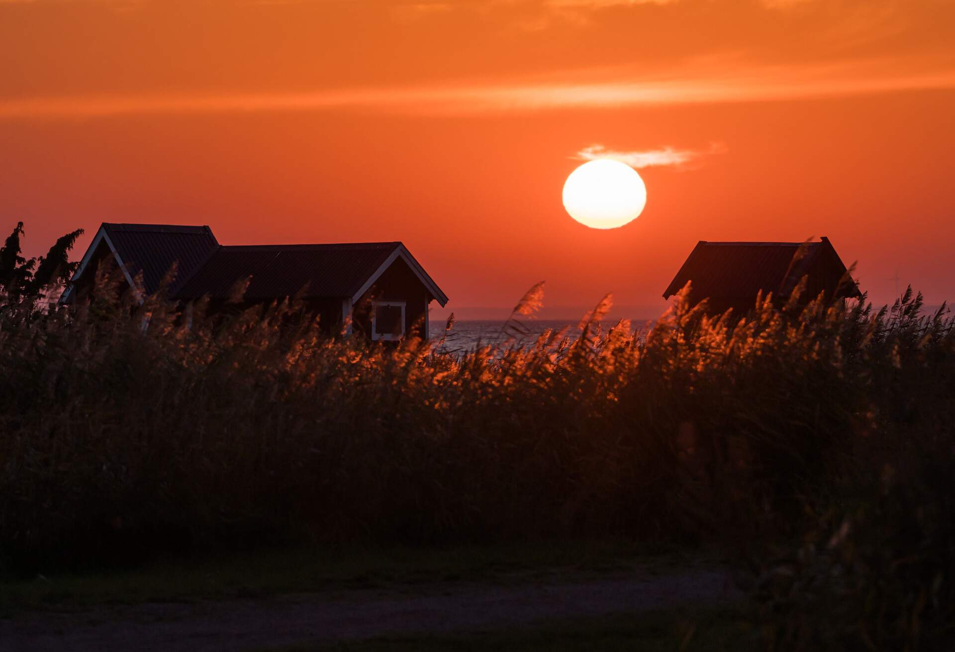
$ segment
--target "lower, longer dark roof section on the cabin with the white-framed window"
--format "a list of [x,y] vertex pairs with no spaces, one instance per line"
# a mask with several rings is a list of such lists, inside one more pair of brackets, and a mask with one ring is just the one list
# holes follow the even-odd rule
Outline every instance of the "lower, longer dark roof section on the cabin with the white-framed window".
[[245,299],[294,296],[351,297],[401,242],[220,246],[176,296],[225,299],[235,284],[251,277]]

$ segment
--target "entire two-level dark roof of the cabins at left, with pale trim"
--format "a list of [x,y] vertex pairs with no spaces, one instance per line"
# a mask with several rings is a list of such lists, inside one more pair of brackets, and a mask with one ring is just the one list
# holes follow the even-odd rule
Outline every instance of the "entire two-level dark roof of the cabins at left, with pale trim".
[[142,273],[147,294],[155,292],[172,264],[178,263],[171,292],[178,299],[225,299],[237,283],[248,279],[244,297],[252,301],[295,295],[357,301],[401,258],[440,305],[448,302],[401,242],[223,246],[208,226],[104,222],[76,270],[74,282],[100,242],[112,250],[130,284]]

